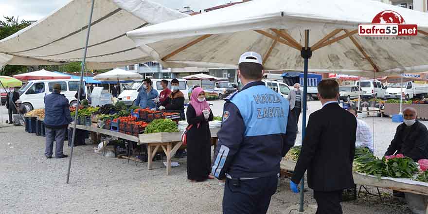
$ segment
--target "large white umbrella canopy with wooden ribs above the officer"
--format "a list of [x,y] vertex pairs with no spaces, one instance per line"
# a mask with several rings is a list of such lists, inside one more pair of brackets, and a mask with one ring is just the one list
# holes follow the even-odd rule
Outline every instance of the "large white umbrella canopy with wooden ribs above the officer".
[[[417,24],[411,39],[373,40],[358,24],[380,12]],[[164,67],[236,66],[246,51],[264,55],[266,70],[303,70],[304,30],[314,50],[309,71],[377,75],[428,70],[428,13],[374,0],[252,0],[127,33]],[[349,33],[348,33],[349,32]]]

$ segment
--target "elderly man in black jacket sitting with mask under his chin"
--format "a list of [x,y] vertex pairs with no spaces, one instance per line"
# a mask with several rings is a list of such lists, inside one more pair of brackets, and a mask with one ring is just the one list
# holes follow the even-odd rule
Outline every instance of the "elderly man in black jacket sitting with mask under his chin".
[[404,123],[398,125],[387,155],[403,154],[414,161],[428,159],[428,130],[416,121],[416,109],[408,107],[403,110]]

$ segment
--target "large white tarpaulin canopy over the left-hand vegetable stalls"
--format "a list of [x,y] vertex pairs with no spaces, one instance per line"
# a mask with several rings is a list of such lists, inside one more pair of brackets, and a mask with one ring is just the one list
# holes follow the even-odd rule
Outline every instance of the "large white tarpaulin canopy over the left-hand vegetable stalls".
[[[0,68],[80,61],[91,0],[71,0],[31,26],[0,41]],[[149,0],[95,0],[87,67],[106,69],[152,60],[125,33],[188,15]]]

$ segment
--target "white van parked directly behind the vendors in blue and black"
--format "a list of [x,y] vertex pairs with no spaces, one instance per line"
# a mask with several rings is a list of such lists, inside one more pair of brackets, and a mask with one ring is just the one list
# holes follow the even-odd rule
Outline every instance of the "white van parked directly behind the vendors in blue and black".
[[[171,89],[171,80],[172,79],[165,79],[168,81],[168,88]],[[160,85],[160,81],[162,79],[152,79],[153,88],[160,93],[160,91],[163,90],[162,86]],[[136,81],[132,84],[132,86],[122,91],[121,94],[118,96],[118,100],[121,102],[124,102],[127,106],[133,106],[135,103],[135,100],[138,96],[138,91],[140,91],[140,88],[143,87],[143,81]],[[187,88],[187,80],[185,79],[178,79],[178,89],[180,89],[181,92],[184,94],[184,99],[189,100],[189,90]]]

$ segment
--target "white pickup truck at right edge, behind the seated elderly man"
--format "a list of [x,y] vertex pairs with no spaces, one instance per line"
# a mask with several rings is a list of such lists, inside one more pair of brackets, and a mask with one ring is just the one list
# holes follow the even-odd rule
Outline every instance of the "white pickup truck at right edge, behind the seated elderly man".
[[[403,88],[403,89],[401,89]],[[404,98],[410,100],[414,97],[421,99],[428,97],[428,84],[416,84],[412,82],[392,83],[386,89],[385,98],[400,98],[400,94],[403,92]]]

